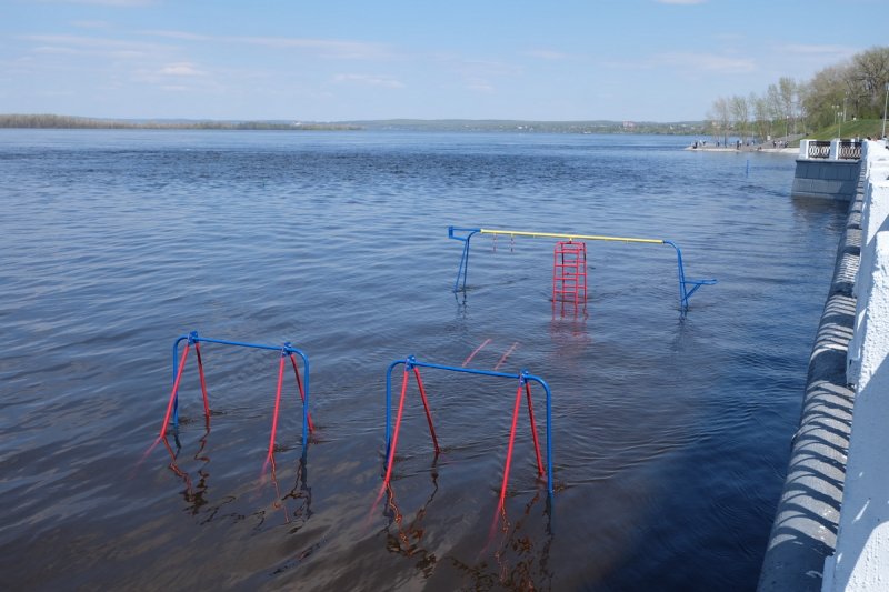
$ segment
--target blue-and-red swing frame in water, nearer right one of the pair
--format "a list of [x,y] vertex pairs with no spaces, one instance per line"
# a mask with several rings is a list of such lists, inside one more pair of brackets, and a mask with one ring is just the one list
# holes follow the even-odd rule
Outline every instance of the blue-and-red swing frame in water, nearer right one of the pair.
[[[404,372],[401,377],[401,397],[398,402],[398,413],[396,415],[394,430],[392,430],[392,371],[394,370],[396,367],[400,364],[404,365]],[[518,424],[518,419],[519,419],[519,407],[521,407],[522,391],[525,391],[528,404],[528,417],[531,424],[531,437],[535,443],[535,454],[537,460],[538,476],[541,478],[543,476],[543,462],[540,456],[540,442],[537,435],[537,422],[535,421],[533,403],[531,400],[531,382],[537,382],[538,384],[540,384],[543,388],[543,391],[546,392],[547,395],[546,475],[547,475],[547,492],[549,494],[549,498],[552,499],[552,430],[551,430],[552,393],[547,382],[540,377],[529,374],[525,370],[520,371],[518,374],[511,374],[507,372],[496,372],[490,370],[475,370],[465,367],[451,367],[437,363],[420,362],[413,355],[410,355],[404,360],[396,360],[394,362],[389,364],[389,369],[386,372],[386,476],[383,478],[383,484],[382,484],[383,490],[389,486],[389,482],[392,478],[392,468],[394,465],[394,459],[396,459],[396,446],[398,445],[398,433],[401,428],[401,419],[404,411],[404,399],[408,392],[408,381],[410,379],[411,373],[413,373],[413,377],[417,382],[417,389],[420,391],[420,399],[422,400],[423,410],[426,411],[426,419],[427,422],[429,423],[429,434],[432,439],[432,446],[434,448],[436,455],[438,455],[441,452],[441,449],[439,448],[438,444],[438,438],[436,437],[436,428],[432,423],[432,413],[429,409],[429,400],[427,398],[426,388],[423,387],[423,381],[422,378],[420,377],[421,368],[518,381],[518,388],[516,389],[516,402],[512,408],[512,427],[510,428],[509,431],[509,446],[507,449],[507,459],[506,459],[506,464],[503,466],[503,481],[500,486],[499,508],[503,506],[503,501],[507,494],[507,484],[509,483],[509,469],[512,463],[512,446],[516,442],[516,427]]]

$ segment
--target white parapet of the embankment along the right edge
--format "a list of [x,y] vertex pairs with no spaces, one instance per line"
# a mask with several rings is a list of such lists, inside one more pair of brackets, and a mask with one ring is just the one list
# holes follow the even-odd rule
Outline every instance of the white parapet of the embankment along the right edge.
[[889,151],[868,142],[862,162],[861,261],[847,355],[855,414],[826,592],[889,590]]

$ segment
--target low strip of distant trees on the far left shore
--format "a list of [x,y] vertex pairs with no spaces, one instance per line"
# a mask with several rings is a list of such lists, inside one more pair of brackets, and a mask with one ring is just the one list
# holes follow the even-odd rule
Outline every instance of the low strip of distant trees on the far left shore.
[[120,121],[54,114],[0,114],[0,128],[93,130],[358,130],[358,126],[278,121]]

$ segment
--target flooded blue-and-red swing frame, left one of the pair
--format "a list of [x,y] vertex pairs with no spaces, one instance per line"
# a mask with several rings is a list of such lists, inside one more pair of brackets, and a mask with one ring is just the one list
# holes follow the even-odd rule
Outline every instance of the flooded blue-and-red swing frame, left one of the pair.
[[[182,351],[182,355],[179,355],[179,344],[186,341],[186,348]],[[173,342],[173,389],[170,393],[170,401],[167,403],[167,412],[163,417],[163,423],[161,424],[160,429],[160,439],[164,439],[167,435],[167,430],[170,425],[170,418],[172,417],[172,424],[173,429],[179,428],[179,383],[182,379],[182,370],[186,368],[186,360],[188,359],[188,352],[191,347],[194,347],[194,353],[198,358],[198,375],[200,377],[201,383],[201,393],[203,395],[203,413],[208,422],[210,422],[210,402],[207,395],[207,380],[203,374],[203,360],[201,359],[201,343],[218,343],[221,345],[233,345],[237,348],[250,348],[250,349],[258,349],[258,350],[271,350],[280,352],[280,363],[278,364],[278,390],[274,395],[274,413],[272,417],[271,423],[271,438],[269,440],[269,453],[267,456],[267,461],[271,460],[272,453],[274,451],[274,435],[278,430],[278,415],[281,407],[281,389],[283,387],[283,375],[284,375],[284,360],[290,359],[291,364],[293,365],[293,374],[297,379],[297,388],[299,389],[299,395],[302,401],[302,448],[306,449],[306,444],[308,443],[309,432],[314,431],[314,425],[312,424],[312,417],[309,413],[309,358],[298,350],[293,348],[290,342],[286,342],[283,345],[262,345],[258,343],[244,343],[240,341],[229,341],[223,339],[210,339],[199,337],[197,331],[192,331],[187,335],[179,337]],[[299,368],[297,367],[297,359],[296,357],[299,355],[302,359],[302,368],[303,374],[306,377],[304,387],[303,381],[300,379]]]

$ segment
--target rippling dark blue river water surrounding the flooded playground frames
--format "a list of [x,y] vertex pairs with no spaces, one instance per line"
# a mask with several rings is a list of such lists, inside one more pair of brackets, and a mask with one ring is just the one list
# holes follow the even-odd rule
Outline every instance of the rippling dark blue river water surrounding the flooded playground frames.
[[[690,141],[0,130],[0,588],[753,589],[845,208]],[[719,283],[681,321],[672,249],[588,242],[563,313],[553,240],[477,237],[456,295],[449,224],[670,239]],[[192,354],[151,448],[193,330],[308,354],[304,460],[291,373],[263,470],[279,354],[212,343],[210,430]],[[551,508],[520,415],[497,516],[516,384],[434,370],[442,453],[412,387],[374,505],[388,364],[482,344],[552,388]]]

